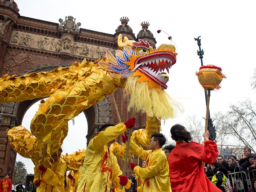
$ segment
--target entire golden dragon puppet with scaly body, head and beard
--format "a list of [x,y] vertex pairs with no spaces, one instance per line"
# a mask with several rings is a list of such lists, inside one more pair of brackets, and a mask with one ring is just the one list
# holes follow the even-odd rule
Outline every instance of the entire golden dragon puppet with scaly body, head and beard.
[[[164,70],[169,72],[177,53],[170,44],[153,50],[142,40],[135,42],[124,37],[122,41],[121,34],[118,45],[122,50],[116,50],[116,56],[106,49],[106,57],[95,62],[84,60],[81,64],[76,62],[50,72],[0,78],[0,104],[49,97],[41,101],[31,121],[31,132],[23,126],[7,131],[12,148],[34,162],[41,160],[45,143],[48,155],[57,152],[68,134],[68,120],[120,87],[130,95],[128,108],[148,115],[146,130],[138,130],[132,135],[137,143],[148,146],[156,126],[160,131],[160,119],[173,118],[178,109],[182,110],[164,91],[168,81]],[[113,150],[117,157],[123,158],[122,146],[116,144]],[[69,170],[83,165],[85,151],[80,152],[62,157]]]

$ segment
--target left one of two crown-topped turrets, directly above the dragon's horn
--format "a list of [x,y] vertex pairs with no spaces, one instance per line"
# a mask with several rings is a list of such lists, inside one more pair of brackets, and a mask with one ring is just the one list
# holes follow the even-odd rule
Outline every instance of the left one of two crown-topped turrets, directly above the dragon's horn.
[[135,34],[133,33],[132,31],[132,28],[127,25],[128,24],[128,21],[129,21],[129,18],[128,17],[121,17],[120,18],[120,21],[121,21],[121,24],[122,25],[119,25],[116,29],[116,33],[115,33],[115,38],[116,38],[116,42],[117,42],[117,37],[120,33],[123,34],[123,38],[124,36],[127,36],[128,39],[130,40],[135,40]]

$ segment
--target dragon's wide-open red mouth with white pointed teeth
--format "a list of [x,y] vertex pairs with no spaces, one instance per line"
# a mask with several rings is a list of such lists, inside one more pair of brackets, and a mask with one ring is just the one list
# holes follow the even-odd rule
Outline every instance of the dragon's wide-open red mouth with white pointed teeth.
[[159,84],[164,89],[167,88],[166,83],[168,78],[166,78],[164,69],[169,73],[169,68],[176,63],[176,56],[169,51],[159,51],[153,52],[148,55],[138,57],[134,62],[134,68],[141,71],[141,73],[148,76],[152,81]]

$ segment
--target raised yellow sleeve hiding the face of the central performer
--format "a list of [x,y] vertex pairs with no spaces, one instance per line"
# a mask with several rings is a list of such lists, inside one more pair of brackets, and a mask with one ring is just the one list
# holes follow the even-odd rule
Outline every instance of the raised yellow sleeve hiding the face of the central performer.
[[116,139],[120,134],[126,130],[124,123],[119,123],[115,126],[110,126],[104,131],[99,132],[97,136],[93,138],[93,148],[99,149],[106,145],[109,141]]

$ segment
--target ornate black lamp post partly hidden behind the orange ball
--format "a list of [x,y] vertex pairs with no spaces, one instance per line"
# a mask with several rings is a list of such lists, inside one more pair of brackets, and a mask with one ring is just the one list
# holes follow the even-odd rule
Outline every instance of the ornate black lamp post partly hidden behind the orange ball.
[[[201,37],[201,36],[199,36]],[[199,51],[197,50],[197,55],[199,56],[199,58],[201,59],[201,66],[203,66],[203,55],[204,55],[204,50],[201,50],[201,39],[199,39],[199,37],[194,38],[195,41],[197,41],[197,45],[199,47]],[[204,90],[204,94],[205,94],[205,101],[207,104],[207,91]],[[210,132],[210,138],[209,140],[215,140],[216,139],[216,132],[215,132],[215,126],[213,126],[212,124],[212,119],[210,116],[210,110],[209,110],[209,116],[208,116],[208,127],[207,130]]]

